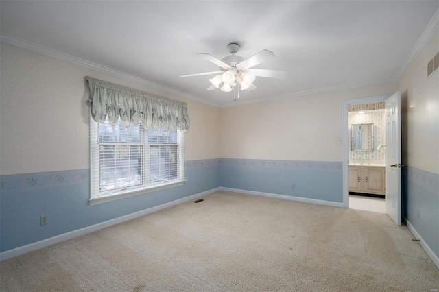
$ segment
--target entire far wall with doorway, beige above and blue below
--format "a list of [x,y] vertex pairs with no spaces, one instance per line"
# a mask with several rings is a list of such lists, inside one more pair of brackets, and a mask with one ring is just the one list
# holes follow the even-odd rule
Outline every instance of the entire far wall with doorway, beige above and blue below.
[[342,203],[342,101],[397,90],[379,84],[222,108],[221,186]]

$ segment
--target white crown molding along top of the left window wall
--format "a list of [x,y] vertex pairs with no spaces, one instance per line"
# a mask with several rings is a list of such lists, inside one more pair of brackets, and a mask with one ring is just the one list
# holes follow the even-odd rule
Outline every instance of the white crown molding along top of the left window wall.
[[161,86],[161,85],[156,84],[154,82],[150,82],[150,81],[144,80],[142,78],[108,68],[106,66],[101,66],[99,64],[96,64],[96,63],[93,63],[93,62],[90,62],[90,61],[87,61],[87,60],[84,60],[81,58],[77,58],[75,56],[71,56],[67,53],[62,53],[61,51],[56,51],[56,50],[50,49],[48,47],[37,45],[34,42],[22,40],[21,38],[16,38],[14,36],[9,36],[7,34],[0,34],[0,41],[7,42],[8,44],[15,45],[17,47],[23,47],[24,49],[29,49],[31,51],[36,51],[37,53],[42,53],[43,55],[46,55],[46,56],[50,56],[50,57],[58,58],[60,60],[71,62],[73,64],[78,64],[78,65],[84,66],[88,69],[92,69],[95,71],[106,73],[108,75],[116,76],[116,77],[119,77],[119,78],[124,79],[124,80],[135,82],[137,84],[142,84],[142,85],[150,87],[150,88],[162,90],[166,93],[171,93],[171,94],[177,95],[179,97],[184,97],[187,99],[201,102],[203,104],[208,104],[209,106],[215,106],[215,107],[219,106],[218,104],[214,104],[214,103],[211,103],[209,101],[204,101],[202,99],[199,99],[198,97],[193,97],[192,95],[182,93],[178,90],[174,90],[172,88]]

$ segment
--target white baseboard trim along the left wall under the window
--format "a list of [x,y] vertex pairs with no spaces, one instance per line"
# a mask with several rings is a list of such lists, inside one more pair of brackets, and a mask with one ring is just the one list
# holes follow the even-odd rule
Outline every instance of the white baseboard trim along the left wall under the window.
[[95,232],[97,230],[101,230],[103,228],[107,228],[131,219],[135,219],[137,217],[141,217],[143,215],[150,214],[152,212],[156,212],[158,210],[162,210],[165,208],[169,208],[171,206],[175,206],[187,201],[191,201],[192,199],[202,197],[204,195],[207,195],[209,193],[215,193],[216,191],[219,191],[220,188],[212,188],[209,191],[204,191],[202,193],[196,193],[195,195],[190,195],[188,197],[183,197],[181,199],[176,199],[171,202],[167,202],[165,204],[161,204],[155,207],[147,208],[145,210],[141,210],[138,212],[134,212],[128,215],[124,215],[121,217],[117,217],[115,219],[110,219],[108,221],[104,221],[101,223],[94,224],[92,226],[87,226],[78,230],[73,230],[71,232],[67,232],[64,234],[60,234],[54,237],[51,237],[49,239],[43,239],[42,241],[37,241],[36,243],[30,243],[28,245],[23,245],[21,247],[16,247],[13,250],[7,250],[5,252],[0,253],[0,261],[2,260],[8,260],[9,258],[14,258],[16,256],[21,256],[22,254],[27,254],[28,252],[33,252],[34,250],[40,250],[43,247],[47,247],[49,245],[54,245],[55,243],[60,243],[62,241],[67,241],[69,239],[73,239],[78,236],[82,236],[84,234],[88,234],[91,232]]

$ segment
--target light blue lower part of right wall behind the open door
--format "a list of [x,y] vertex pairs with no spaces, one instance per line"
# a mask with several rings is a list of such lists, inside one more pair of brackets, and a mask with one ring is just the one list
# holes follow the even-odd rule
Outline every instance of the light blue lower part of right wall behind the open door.
[[402,204],[405,220],[439,257],[439,175],[404,167]]

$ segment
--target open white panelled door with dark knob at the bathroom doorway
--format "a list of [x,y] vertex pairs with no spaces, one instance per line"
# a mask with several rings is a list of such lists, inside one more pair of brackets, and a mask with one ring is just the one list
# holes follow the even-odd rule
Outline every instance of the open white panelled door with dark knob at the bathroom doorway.
[[394,93],[385,100],[386,159],[385,212],[401,225],[401,96]]

